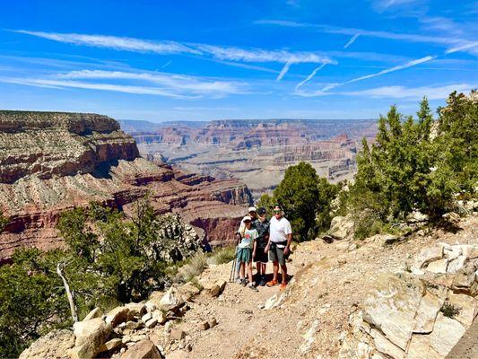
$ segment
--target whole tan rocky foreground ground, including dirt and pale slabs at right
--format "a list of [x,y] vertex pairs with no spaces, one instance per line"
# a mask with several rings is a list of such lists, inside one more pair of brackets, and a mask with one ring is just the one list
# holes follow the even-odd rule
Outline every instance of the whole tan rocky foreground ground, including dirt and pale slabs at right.
[[[167,358],[444,358],[478,312],[477,257],[478,215],[471,215],[454,232],[302,243],[291,256],[292,279],[283,293],[277,286],[253,292],[224,285],[230,264],[211,266],[200,278],[201,293],[188,285],[190,299],[168,311],[164,325],[161,317],[151,328],[122,333],[122,344],[107,356],[131,357],[133,348],[147,349],[151,341]],[[469,267],[471,282],[460,286],[457,279]],[[146,308],[154,301],[163,308],[184,298],[184,290],[155,293]],[[458,303],[459,313],[446,317],[440,311],[445,300]],[[159,315],[152,311],[143,325]],[[475,330],[476,321],[460,342],[465,351],[454,349],[450,357],[474,357]]]

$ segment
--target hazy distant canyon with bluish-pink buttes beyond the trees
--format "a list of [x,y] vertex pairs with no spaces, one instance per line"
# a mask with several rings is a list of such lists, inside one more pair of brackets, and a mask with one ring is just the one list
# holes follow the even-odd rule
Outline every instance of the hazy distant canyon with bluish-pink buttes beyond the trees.
[[241,180],[255,198],[273,190],[300,161],[333,182],[351,179],[361,139],[372,141],[377,133],[375,119],[119,122],[143,156],[216,179]]

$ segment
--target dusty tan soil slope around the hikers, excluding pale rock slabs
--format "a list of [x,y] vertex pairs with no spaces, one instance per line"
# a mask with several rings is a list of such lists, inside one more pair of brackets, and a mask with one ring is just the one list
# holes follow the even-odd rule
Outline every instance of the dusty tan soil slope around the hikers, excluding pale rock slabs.
[[[361,302],[369,284],[379,273],[411,266],[417,252],[440,241],[476,243],[478,216],[462,220],[455,233],[432,231],[392,245],[384,245],[379,237],[332,244],[321,240],[302,243],[291,256],[288,267],[293,279],[279,307],[261,309],[279,293],[277,286],[259,287],[255,293],[241,285],[228,284],[219,298],[202,294],[175,324],[190,337],[191,351],[173,344],[168,346],[167,355],[195,359],[335,358],[348,316]],[[267,269],[271,271],[272,266],[269,264]],[[229,275],[230,264],[204,273],[204,277],[213,279],[228,279]],[[218,321],[216,327],[198,328],[199,322],[212,318]],[[476,331],[476,322],[473,328]],[[465,344],[473,345],[474,338],[464,338]],[[473,356],[475,352],[468,353]]]

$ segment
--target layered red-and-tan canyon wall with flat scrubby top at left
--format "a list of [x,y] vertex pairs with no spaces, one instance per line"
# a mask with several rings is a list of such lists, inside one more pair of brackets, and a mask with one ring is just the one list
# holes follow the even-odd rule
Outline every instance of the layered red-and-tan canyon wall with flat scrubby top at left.
[[142,158],[113,118],[65,112],[0,111],[0,259],[20,247],[62,245],[62,213],[91,201],[131,215],[148,197],[157,214],[178,214],[209,245],[232,241],[252,200],[243,183],[215,180]]

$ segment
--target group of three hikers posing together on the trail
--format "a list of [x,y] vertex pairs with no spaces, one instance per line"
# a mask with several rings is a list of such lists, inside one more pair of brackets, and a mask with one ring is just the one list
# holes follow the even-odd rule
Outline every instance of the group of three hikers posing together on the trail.
[[[246,215],[236,232],[237,267],[235,268],[237,282],[248,285],[254,291],[257,286],[279,285],[279,266],[282,269],[280,290],[287,285],[286,259],[291,253],[292,229],[291,223],[283,216],[282,207],[274,206],[274,215],[266,218],[264,207],[248,208]],[[265,271],[268,261],[273,262],[273,279],[266,282]],[[256,263],[256,276],[252,274],[252,263]]]

